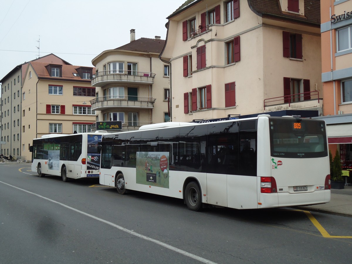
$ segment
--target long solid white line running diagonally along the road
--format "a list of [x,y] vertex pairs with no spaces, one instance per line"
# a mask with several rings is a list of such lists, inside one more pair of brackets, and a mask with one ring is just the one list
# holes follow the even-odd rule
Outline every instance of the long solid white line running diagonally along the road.
[[150,237],[146,237],[145,235],[139,234],[139,233],[134,232],[134,231],[132,231],[132,230],[128,230],[127,228],[124,228],[124,227],[122,227],[122,226],[116,225],[116,224],[114,224],[114,223],[112,223],[112,222],[106,221],[106,220],[101,219],[101,218],[99,218],[99,217],[96,217],[96,216],[94,216],[94,215],[87,214],[87,213],[85,213],[85,212],[83,212],[83,211],[80,211],[80,210],[78,210],[78,209],[75,209],[75,208],[73,208],[73,207],[70,207],[70,206],[68,206],[68,205],[65,205],[65,204],[63,204],[63,203],[61,203],[61,202],[57,202],[57,201],[55,201],[55,200],[51,200],[51,199],[49,199],[49,198],[47,198],[47,197],[44,197],[44,196],[39,195],[39,194],[36,194],[36,193],[32,193],[31,191],[27,191],[27,190],[21,189],[21,188],[19,188],[19,187],[13,186],[13,185],[8,184],[8,183],[6,183],[6,182],[0,181],[0,183],[6,184],[7,186],[10,186],[10,187],[13,187],[13,188],[15,188],[15,189],[24,191],[24,192],[26,192],[26,193],[29,193],[29,194],[38,196],[39,198],[45,199],[45,200],[47,200],[47,201],[49,201],[49,202],[56,203],[56,204],[58,204],[58,205],[61,205],[61,206],[63,206],[63,207],[66,207],[66,208],[68,208],[68,209],[70,209],[70,210],[73,210],[73,211],[75,211],[75,212],[77,212],[77,213],[86,215],[86,216],[88,216],[88,217],[90,217],[90,218],[93,218],[93,219],[95,219],[95,220],[98,220],[98,221],[100,221],[100,222],[103,222],[103,223],[105,223],[105,224],[108,224],[108,225],[110,225],[110,226],[113,226],[113,227],[115,227],[115,228],[117,228],[117,229],[119,229],[119,230],[121,230],[121,231],[124,231],[124,232],[126,232],[126,233],[128,233],[128,234],[134,235],[134,236],[136,236],[136,237],[139,237],[139,238],[145,239],[145,240],[147,240],[147,241],[153,242],[153,243],[155,243],[155,244],[158,244],[158,245],[160,245],[160,246],[166,247],[166,249],[170,249],[170,250],[175,251],[175,252],[177,252],[177,253],[183,254],[184,256],[187,256],[187,257],[196,259],[196,260],[198,260],[198,261],[200,261],[200,262],[203,262],[203,263],[216,264],[215,262],[212,262],[212,261],[210,261],[210,260],[208,260],[208,259],[205,259],[205,258],[196,256],[196,255],[191,254],[191,253],[189,253],[189,252],[187,252],[187,251],[178,249],[177,247],[174,247],[174,246],[171,246],[171,245],[169,245],[169,244],[163,243],[163,242],[161,242],[161,241],[159,241],[159,240],[156,240],[156,239],[153,239],[153,238],[150,238]]

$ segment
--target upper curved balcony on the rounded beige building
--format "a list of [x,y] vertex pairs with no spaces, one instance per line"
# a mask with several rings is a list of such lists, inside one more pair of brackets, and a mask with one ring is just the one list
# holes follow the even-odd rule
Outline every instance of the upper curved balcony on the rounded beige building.
[[92,86],[103,87],[115,82],[153,84],[155,73],[131,70],[99,71],[92,79]]

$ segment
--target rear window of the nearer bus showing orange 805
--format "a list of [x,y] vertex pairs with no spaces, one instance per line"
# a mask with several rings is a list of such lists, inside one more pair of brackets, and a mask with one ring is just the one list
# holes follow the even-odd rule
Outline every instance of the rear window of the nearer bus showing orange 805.
[[270,149],[272,157],[326,157],[325,123],[320,120],[270,118]]

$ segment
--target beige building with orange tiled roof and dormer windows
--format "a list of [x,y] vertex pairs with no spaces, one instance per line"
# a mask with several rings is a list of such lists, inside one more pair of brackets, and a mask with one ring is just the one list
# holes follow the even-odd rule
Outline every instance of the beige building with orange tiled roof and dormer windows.
[[95,96],[90,86],[95,68],[74,66],[55,55],[49,61],[29,62],[23,78],[21,152],[27,159],[33,138],[90,132],[95,121],[89,103]]

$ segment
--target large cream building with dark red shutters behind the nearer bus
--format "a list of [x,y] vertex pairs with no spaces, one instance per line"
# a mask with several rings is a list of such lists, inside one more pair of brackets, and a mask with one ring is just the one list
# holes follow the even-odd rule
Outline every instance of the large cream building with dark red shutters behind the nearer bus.
[[322,112],[320,1],[189,0],[168,19],[173,121]]

